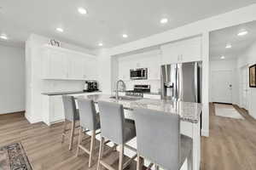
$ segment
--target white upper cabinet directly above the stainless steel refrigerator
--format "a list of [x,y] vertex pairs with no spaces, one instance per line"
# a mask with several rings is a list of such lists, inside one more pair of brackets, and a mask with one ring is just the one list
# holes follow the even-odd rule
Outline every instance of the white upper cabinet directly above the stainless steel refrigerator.
[[184,63],[201,60],[201,37],[172,42],[160,47],[161,64]]

